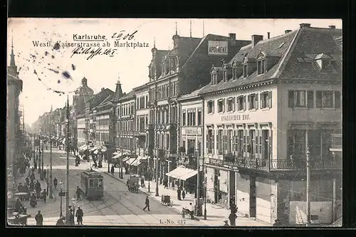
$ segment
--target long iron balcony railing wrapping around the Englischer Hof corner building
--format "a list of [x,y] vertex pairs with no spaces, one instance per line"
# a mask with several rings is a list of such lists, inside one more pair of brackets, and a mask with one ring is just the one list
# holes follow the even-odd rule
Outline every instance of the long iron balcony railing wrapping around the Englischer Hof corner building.
[[[245,169],[257,169],[263,171],[300,171],[306,169],[305,160],[290,159],[263,159],[254,157],[237,157],[234,155],[225,156],[224,159],[209,158],[208,164],[219,167],[236,167]],[[335,159],[318,159],[310,160],[310,169],[341,169],[341,160]]]

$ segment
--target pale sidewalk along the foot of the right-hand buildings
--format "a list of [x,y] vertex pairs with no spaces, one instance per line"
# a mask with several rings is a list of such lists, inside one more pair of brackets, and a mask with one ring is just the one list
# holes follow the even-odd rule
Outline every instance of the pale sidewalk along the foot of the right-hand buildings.
[[[105,172],[108,174],[108,163],[103,162],[103,167],[100,169],[101,172]],[[110,174],[110,173],[109,173]],[[115,168],[114,175],[110,176],[115,179],[121,181],[126,184],[127,179],[130,174],[125,174],[125,168],[123,169],[123,179],[120,179],[120,169]],[[184,200],[177,199],[177,189],[172,189],[172,187],[168,189],[164,189],[162,184],[158,184],[159,196],[155,196],[156,192],[156,182],[150,181],[150,192],[148,192],[148,181],[145,181],[145,188],[140,187],[140,190],[151,196],[151,198],[156,199],[157,201],[161,201],[162,195],[168,195],[171,197],[173,202],[173,208],[179,211],[182,211],[183,207],[189,206],[189,203],[192,202],[194,204],[194,194],[186,194]],[[204,206],[203,206],[203,214],[204,214]],[[228,220],[230,214],[229,209],[225,209],[224,207],[214,205],[214,204],[206,204],[206,220],[204,220],[204,216],[197,216],[201,223],[204,223],[206,226],[222,226],[224,224],[224,220]],[[238,218],[236,219],[237,226],[271,226],[268,223],[264,223],[262,221],[253,220],[252,218],[245,217],[245,214],[237,213]]]

